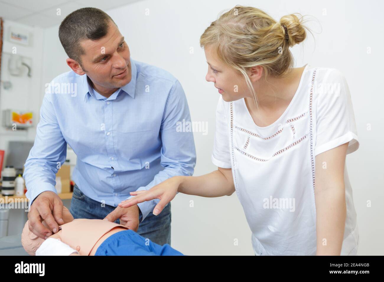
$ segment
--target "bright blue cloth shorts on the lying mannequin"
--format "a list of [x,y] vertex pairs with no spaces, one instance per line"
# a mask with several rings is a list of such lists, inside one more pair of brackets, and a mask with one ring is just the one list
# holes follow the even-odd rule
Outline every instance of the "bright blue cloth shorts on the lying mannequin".
[[184,256],[169,244],[160,246],[132,230],[109,236],[96,250],[95,256]]

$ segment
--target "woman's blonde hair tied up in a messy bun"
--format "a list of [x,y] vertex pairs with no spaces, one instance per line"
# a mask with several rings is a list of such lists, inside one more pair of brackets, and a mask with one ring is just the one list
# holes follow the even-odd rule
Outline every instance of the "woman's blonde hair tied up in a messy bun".
[[308,28],[302,19],[301,14],[295,13],[277,22],[262,10],[236,5],[210,24],[200,37],[200,47],[212,46],[223,64],[244,76],[257,105],[248,77],[250,68],[262,66],[265,78],[288,75],[294,65],[289,47],[306,38]]

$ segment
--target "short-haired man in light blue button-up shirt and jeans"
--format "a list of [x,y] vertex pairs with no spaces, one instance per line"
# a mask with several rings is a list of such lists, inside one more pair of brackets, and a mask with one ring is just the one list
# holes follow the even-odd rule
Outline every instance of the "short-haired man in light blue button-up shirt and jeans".
[[176,130],[177,122],[190,121],[180,82],[133,60],[114,21],[99,9],[72,12],[60,25],[59,38],[72,70],[46,84],[25,163],[30,230],[46,238],[64,223],[55,174],[68,144],[77,156],[74,218],[120,221],[157,244],[170,244],[170,204],[159,216],[152,213],[158,199],[130,208],[118,204],[131,198],[129,192],[193,174],[193,134]]

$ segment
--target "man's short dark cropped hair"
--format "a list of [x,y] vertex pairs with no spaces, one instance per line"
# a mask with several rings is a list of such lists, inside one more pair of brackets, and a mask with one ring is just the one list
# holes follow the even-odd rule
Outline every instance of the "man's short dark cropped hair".
[[66,16],[59,27],[59,38],[68,57],[83,68],[80,56],[85,52],[80,42],[106,36],[110,21],[116,25],[107,13],[98,8],[81,8]]

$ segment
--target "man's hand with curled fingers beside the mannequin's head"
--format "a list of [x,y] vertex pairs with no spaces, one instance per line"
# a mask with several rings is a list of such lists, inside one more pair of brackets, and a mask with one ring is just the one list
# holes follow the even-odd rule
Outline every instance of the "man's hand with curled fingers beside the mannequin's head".
[[[40,193],[31,205],[28,220],[29,230],[42,239],[59,231],[59,225],[64,224],[63,202],[60,197],[52,191]],[[45,221],[48,227],[44,226],[42,221]]]

